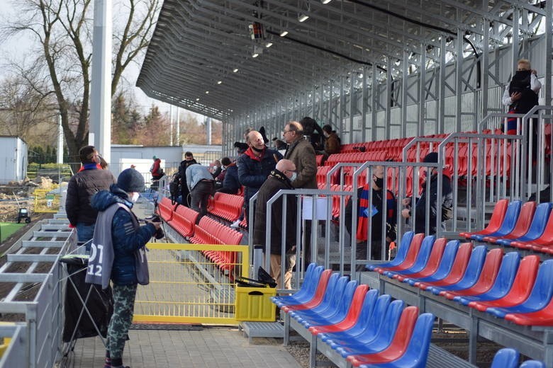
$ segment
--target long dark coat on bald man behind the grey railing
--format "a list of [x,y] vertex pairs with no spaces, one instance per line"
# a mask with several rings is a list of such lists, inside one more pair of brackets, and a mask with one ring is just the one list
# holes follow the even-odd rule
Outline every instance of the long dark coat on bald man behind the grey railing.
[[[294,189],[294,187],[284,173],[275,169],[257,193],[253,231],[253,243],[255,245],[265,245],[265,234],[267,234],[267,202],[281,189]],[[282,217],[283,197],[279,197],[271,207],[271,254],[281,255],[283,234],[286,238],[286,251],[290,251],[296,245],[297,201],[296,197],[292,195],[287,195],[286,198],[286,234],[284,234],[284,221]]]

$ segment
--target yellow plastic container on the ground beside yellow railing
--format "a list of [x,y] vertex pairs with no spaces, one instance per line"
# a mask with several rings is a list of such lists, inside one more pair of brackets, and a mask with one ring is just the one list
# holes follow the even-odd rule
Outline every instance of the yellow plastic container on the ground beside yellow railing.
[[277,295],[273,287],[236,287],[235,318],[237,321],[274,322],[276,306],[271,297]]

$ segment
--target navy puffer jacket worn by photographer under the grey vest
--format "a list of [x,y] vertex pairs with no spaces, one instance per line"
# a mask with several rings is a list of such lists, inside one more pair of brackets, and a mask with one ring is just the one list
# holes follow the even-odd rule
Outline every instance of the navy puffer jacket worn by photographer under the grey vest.
[[[128,201],[127,193],[119,189],[117,185],[111,185],[110,191],[97,192],[91,199],[91,205],[96,211],[104,211],[114,203],[121,203],[129,208],[133,203]],[[125,209],[118,209],[113,216],[111,239],[113,241],[113,266],[111,268],[111,280],[114,284],[137,284],[134,253],[142,248],[155,234],[155,226],[145,224],[135,229],[133,219]]]

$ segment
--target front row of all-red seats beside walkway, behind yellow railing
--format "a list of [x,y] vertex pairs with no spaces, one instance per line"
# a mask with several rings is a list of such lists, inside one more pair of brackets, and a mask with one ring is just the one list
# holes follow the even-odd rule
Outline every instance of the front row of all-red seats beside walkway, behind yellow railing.
[[[242,241],[242,233],[217,222],[207,216],[196,221],[199,213],[163,197],[158,205],[158,214],[169,226],[183,238],[194,244],[238,245]],[[230,271],[235,267],[236,253],[228,251],[203,251],[211,262],[216,263],[220,270]]]

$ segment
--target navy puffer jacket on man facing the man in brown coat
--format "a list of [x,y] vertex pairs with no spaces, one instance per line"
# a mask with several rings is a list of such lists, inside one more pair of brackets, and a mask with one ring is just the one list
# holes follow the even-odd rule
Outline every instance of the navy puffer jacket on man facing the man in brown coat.
[[238,157],[238,180],[245,186],[244,202],[250,201],[252,195],[257,193],[261,185],[267,180],[271,171],[277,166],[277,160],[282,155],[273,149],[265,149],[261,159],[257,159],[249,148],[242,156]]

